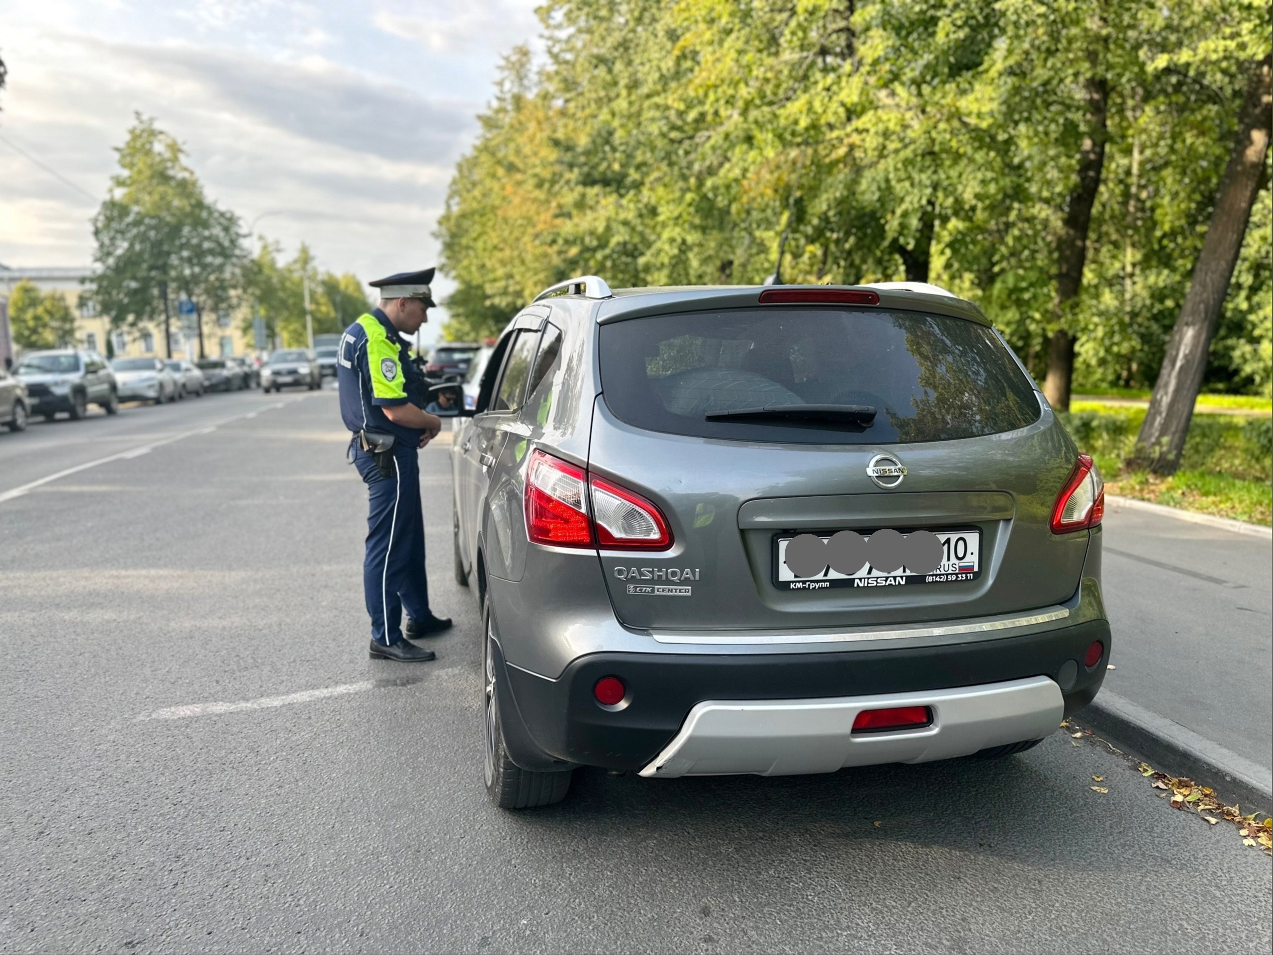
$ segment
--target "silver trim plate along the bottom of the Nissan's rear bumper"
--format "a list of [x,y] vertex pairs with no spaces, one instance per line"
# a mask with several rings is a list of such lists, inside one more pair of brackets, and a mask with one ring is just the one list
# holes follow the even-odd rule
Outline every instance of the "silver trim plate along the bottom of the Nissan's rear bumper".
[[[933,722],[920,730],[853,733],[858,713],[889,707],[932,707]],[[640,774],[794,775],[928,763],[1041,740],[1057,730],[1063,713],[1060,688],[1046,676],[873,697],[705,700]]]

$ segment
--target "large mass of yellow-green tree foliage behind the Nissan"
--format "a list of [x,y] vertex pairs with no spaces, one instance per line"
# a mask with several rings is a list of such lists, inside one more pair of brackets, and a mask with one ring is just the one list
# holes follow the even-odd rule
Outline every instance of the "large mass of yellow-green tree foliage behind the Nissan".
[[[448,335],[586,272],[927,279],[1040,381],[1064,330],[1080,390],[1152,385],[1270,45],[1267,0],[551,0],[541,19],[542,61],[505,61],[439,222]],[[1265,190],[1208,387],[1269,390],[1269,228]]]

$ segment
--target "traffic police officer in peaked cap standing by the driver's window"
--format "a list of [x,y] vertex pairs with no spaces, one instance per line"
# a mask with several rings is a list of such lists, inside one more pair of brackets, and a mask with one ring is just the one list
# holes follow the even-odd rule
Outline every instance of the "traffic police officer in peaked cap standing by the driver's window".
[[[345,330],[336,358],[340,414],[354,433],[350,453],[370,498],[363,559],[370,656],[401,662],[433,660],[433,651],[409,640],[451,626],[449,619],[429,610],[416,458],[418,449],[442,429],[442,420],[423,410],[425,381],[402,337],[428,321],[433,271],[398,272],[370,283],[381,290],[379,308]],[[401,626],[404,609],[406,626]]]

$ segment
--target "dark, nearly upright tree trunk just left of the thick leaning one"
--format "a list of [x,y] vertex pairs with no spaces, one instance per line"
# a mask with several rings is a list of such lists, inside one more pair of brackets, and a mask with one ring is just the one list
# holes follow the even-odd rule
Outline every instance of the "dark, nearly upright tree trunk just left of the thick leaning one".
[[1109,81],[1104,76],[1088,76],[1087,131],[1078,148],[1078,182],[1069,194],[1066,222],[1057,243],[1057,298],[1053,320],[1059,326],[1048,348],[1048,377],[1043,393],[1058,411],[1069,410],[1069,382],[1074,372],[1074,336],[1064,327],[1078,293],[1083,288],[1083,265],[1087,262],[1087,230],[1092,224],[1092,206],[1101,187],[1105,167],[1106,121]]

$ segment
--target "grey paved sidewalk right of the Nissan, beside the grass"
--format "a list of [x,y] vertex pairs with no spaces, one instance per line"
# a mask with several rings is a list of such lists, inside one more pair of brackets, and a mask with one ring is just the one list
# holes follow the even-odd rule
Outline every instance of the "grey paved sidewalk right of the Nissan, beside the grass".
[[[1106,709],[1133,721],[1148,711],[1142,723],[1165,718],[1170,722],[1158,728],[1171,733],[1174,722],[1184,727],[1175,736],[1185,747],[1218,745],[1268,778],[1273,540],[1118,500],[1106,506],[1104,527],[1114,635]],[[1136,740],[1122,741],[1136,746]]]

